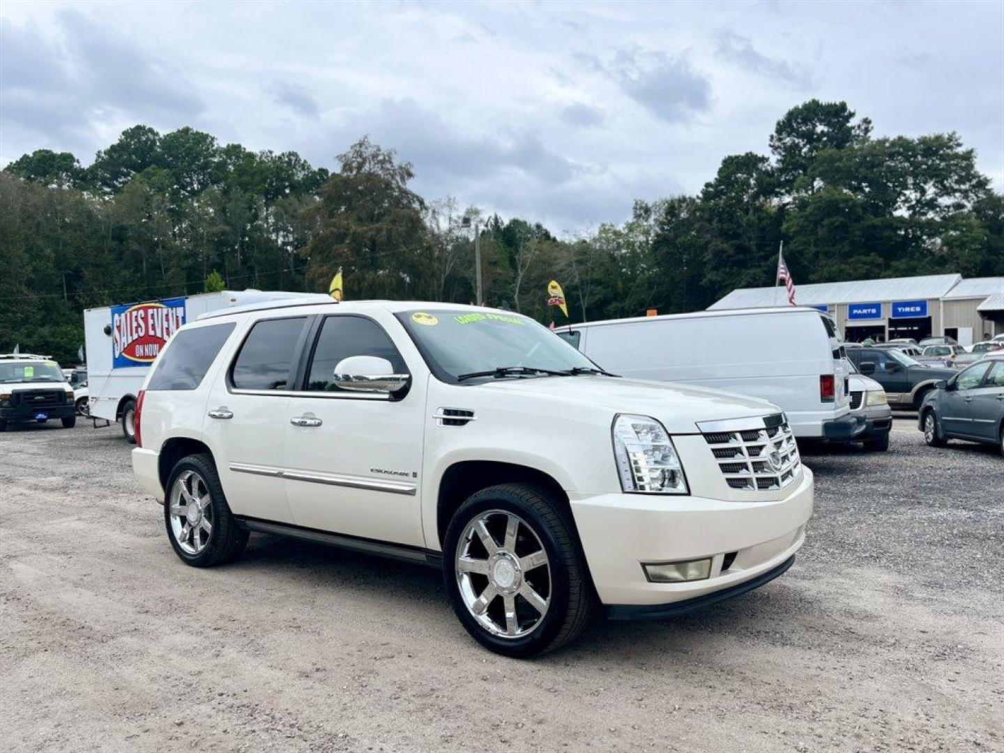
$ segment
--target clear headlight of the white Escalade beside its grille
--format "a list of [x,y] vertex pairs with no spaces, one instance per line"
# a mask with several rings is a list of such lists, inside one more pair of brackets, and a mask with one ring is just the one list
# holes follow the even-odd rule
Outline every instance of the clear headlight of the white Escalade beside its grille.
[[613,457],[625,492],[689,494],[684,469],[666,429],[647,416],[613,420]]

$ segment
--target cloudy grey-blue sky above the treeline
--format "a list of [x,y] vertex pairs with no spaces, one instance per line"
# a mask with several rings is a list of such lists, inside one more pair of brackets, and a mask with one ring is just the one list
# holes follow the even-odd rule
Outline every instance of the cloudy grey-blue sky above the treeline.
[[137,122],[295,150],[363,134],[455,196],[573,233],[765,153],[845,99],[874,133],[956,131],[1004,189],[1004,3],[0,4],[0,165]]

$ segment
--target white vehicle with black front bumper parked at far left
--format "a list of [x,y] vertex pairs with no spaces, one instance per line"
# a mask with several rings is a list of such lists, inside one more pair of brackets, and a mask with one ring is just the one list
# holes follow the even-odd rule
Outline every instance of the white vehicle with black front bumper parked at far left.
[[0,432],[10,424],[60,421],[76,425],[73,389],[48,355],[0,355]]

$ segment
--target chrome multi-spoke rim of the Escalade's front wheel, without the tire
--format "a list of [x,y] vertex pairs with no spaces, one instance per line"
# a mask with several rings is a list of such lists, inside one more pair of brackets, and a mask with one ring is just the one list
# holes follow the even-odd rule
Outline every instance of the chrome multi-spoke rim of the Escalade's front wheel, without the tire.
[[493,636],[523,638],[547,613],[550,561],[518,515],[489,510],[471,520],[460,535],[454,571],[468,611]]

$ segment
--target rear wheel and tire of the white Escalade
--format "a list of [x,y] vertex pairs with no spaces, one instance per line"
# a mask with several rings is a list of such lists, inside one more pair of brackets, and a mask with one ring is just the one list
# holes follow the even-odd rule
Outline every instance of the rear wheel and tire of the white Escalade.
[[248,542],[208,455],[182,458],[168,477],[164,523],[175,553],[193,567],[213,567],[237,559]]

